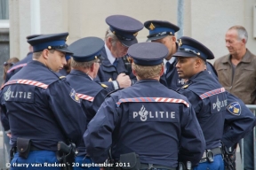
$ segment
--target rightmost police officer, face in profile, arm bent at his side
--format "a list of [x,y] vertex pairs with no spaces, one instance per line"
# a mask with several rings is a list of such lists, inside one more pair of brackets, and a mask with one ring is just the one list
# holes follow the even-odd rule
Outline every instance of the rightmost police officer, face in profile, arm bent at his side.
[[238,118],[240,101],[230,96],[219,81],[204,70],[206,59],[214,58],[212,51],[186,36],[181,37],[179,42],[180,49],[173,56],[178,58],[176,67],[180,78],[188,79],[188,82],[178,92],[191,102],[206,142],[204,155],[194,169],[224,169],[220,140],[228,147],[232,146],[252,130],[255,118],[243,104],[244,115]]

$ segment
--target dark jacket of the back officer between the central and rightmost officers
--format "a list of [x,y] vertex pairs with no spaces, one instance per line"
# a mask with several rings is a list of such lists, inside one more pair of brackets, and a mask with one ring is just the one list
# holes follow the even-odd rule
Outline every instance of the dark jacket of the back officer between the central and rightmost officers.
[[[170,65],[169,72],[164,73],[160,78],[160,82],[164,84],[164,86],[171,88],[173,90],[180,89],[186,83],[184,79],[179,78],[179,74],[176,69],[177,63],[178,63],[178,59],[175,58],[175,60]],[[216,79],[218,79],[217,72],[215,71],[211,63],[207,62],[206,69]]]

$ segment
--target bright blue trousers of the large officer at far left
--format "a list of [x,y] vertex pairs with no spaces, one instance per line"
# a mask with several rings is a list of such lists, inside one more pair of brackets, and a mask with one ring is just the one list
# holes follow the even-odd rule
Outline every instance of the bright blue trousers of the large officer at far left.
[[15,153],[10,166],[11,170],[61,170],[61,165],[54,151],[30,151],[26,159]]

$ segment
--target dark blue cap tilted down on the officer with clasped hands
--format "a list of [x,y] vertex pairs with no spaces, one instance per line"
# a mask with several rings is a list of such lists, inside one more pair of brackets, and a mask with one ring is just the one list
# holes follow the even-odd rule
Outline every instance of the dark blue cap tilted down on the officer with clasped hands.
[[136,36],[143,28],[143,24],[139,20],[125,15],[111,15],[106,19],[106,23],[110,31],[126,47],[138,42]]

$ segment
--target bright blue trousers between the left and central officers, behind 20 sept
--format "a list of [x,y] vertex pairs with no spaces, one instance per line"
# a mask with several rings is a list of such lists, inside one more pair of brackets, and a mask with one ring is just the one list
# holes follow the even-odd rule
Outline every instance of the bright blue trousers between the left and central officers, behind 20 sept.
[[95,166],[91,158],[76,157],[73,164],[73,170],[100,170],[100,167]]

